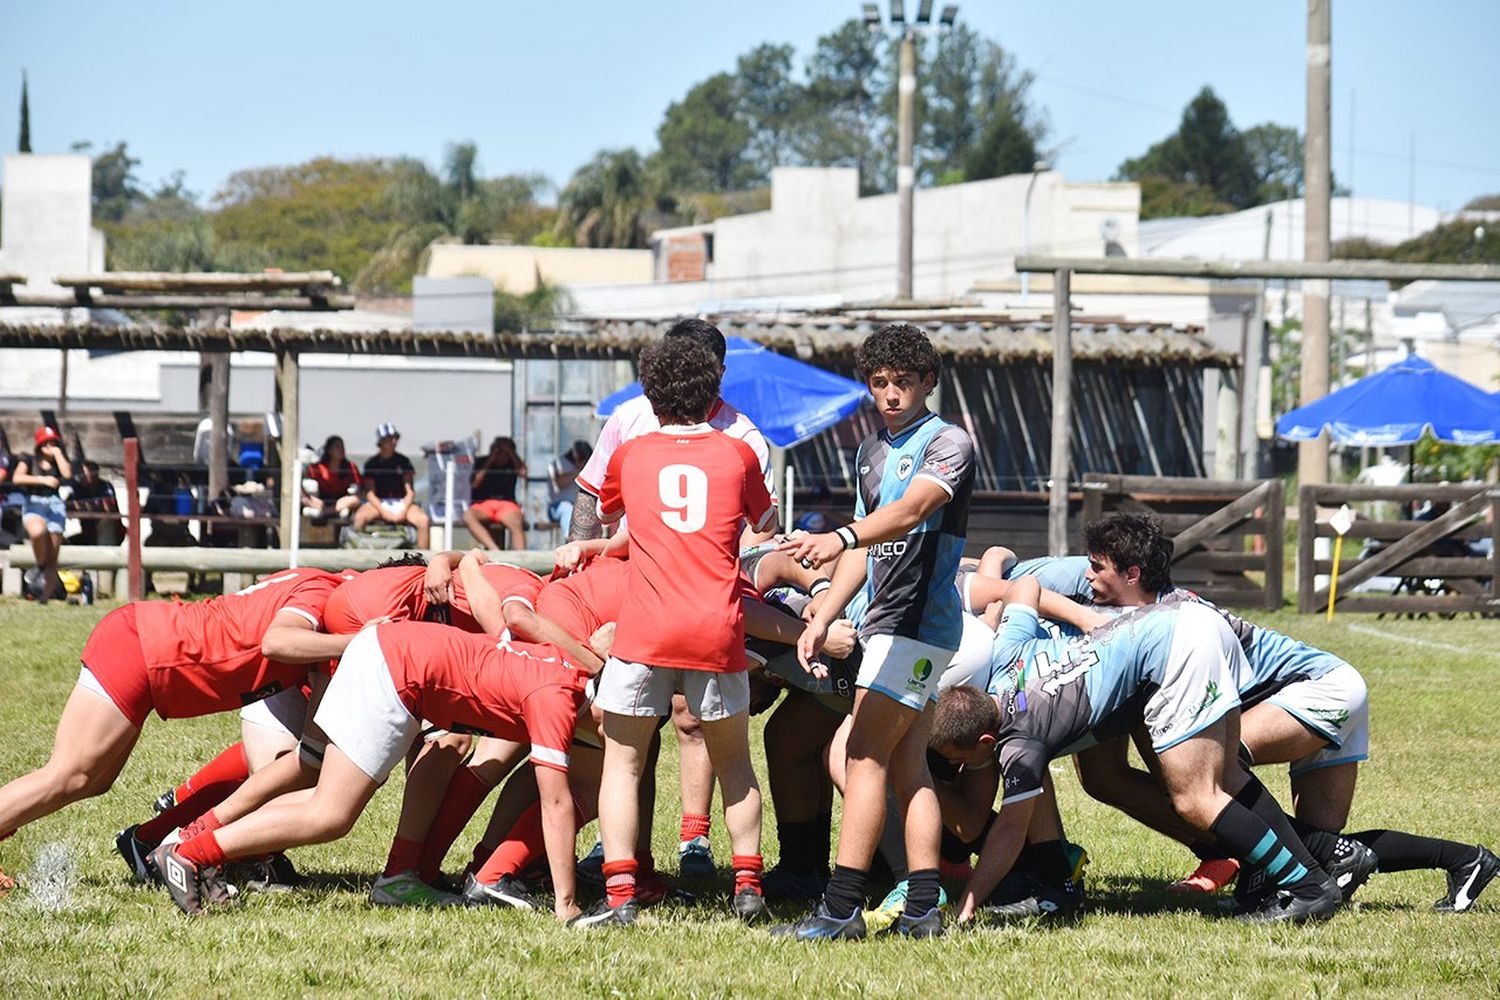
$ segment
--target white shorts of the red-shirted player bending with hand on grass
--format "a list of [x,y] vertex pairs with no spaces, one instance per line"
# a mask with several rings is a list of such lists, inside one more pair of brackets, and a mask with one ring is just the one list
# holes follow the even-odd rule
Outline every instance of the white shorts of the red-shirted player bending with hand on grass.
[[314,720],[328,742],[376,783],[384,783],[422,727],[400,697],[375,630],[350,642]]

